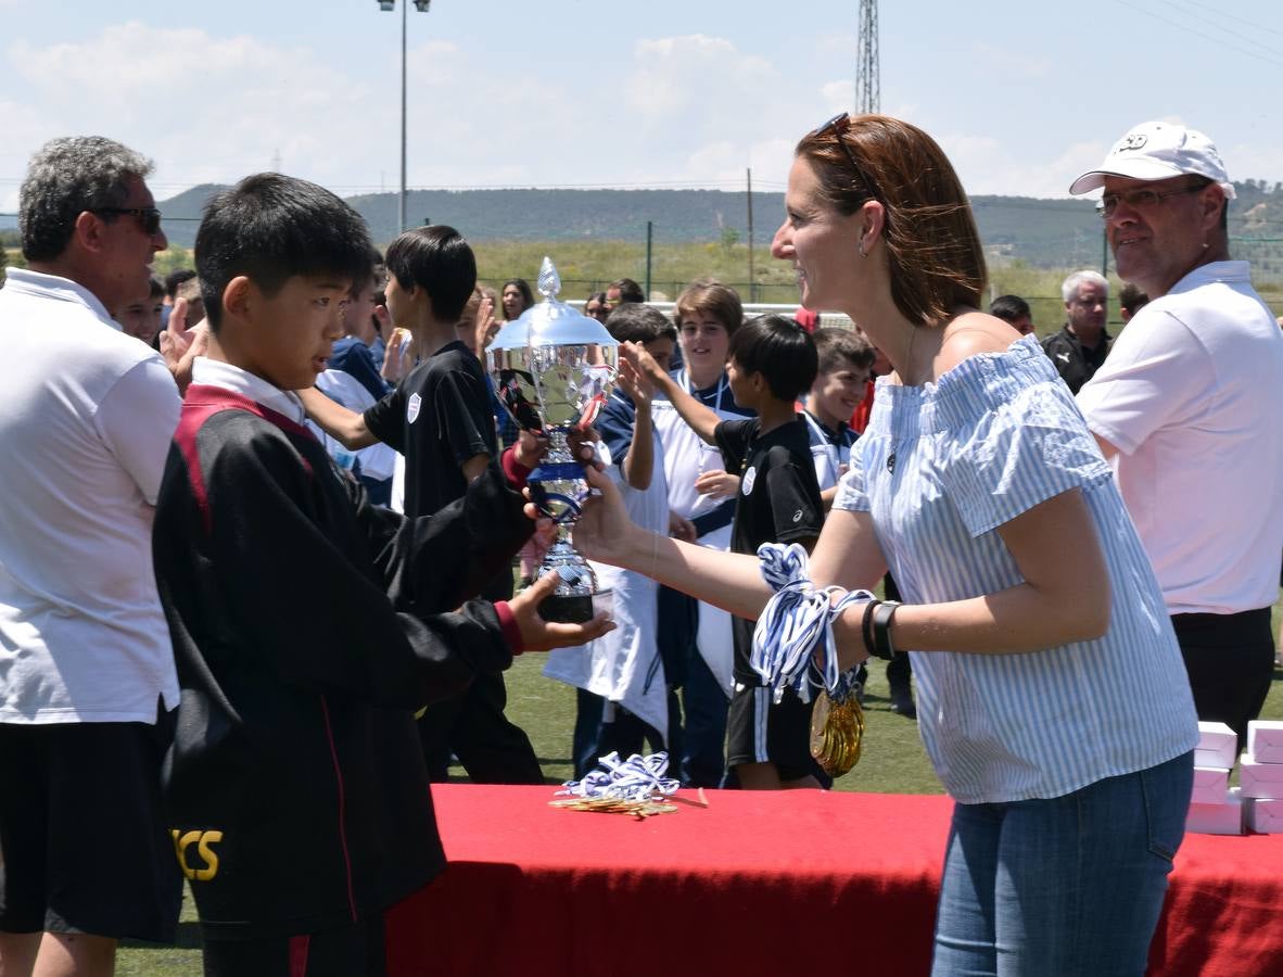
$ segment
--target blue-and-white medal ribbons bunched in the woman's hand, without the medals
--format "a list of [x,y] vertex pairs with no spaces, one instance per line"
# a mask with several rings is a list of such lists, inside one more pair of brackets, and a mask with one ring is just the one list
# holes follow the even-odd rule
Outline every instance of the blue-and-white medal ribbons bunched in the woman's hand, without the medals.
[[[779,702],[792,688],[803,702],[811,701],[811,686],[824,686],[835,698],[844,697],[854,669],[843,674],[833,621],[852,603],[874,600],[869,591],[811,585],[807,553],[797,543],[763,543],[757,549],[762,579],[775,591],[757,619],[749,664]],[[842,594],[837,601],[833,594]]]

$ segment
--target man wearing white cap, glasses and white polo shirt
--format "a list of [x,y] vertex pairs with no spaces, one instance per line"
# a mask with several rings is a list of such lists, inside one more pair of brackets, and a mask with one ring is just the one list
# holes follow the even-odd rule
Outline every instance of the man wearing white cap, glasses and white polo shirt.
[[1078,403],[1159,576],[1198,716],[1242,741],[1274,665],[1283,334],[1247,262],[1229,261],[1234,186],[1211,140],[1144,122],[1069,190],[1102,187],[1119,277],[1152,300]]

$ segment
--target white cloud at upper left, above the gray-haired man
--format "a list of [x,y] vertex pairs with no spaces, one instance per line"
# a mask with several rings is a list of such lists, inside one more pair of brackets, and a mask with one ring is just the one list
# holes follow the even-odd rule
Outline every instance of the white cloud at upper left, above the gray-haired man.
[[339,176],[354,150],[344,125],[373,103],[368,83],[308,51],[194,28],[127,23],[8,54],[42,107],[44,137],[119,139],[155,158],[158,186],[236,178],[267,168],[277,150],[295,172]]

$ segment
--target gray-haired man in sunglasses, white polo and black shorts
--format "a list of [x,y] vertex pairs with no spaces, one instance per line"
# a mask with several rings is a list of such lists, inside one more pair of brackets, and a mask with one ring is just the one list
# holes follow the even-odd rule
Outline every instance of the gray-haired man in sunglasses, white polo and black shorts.
[[178,705],[151,516],[180,399],[108,309],[167,246],[150,162],[56,139],[19,191],[30,270],[0,290],[0,971],[108,974],[172,938],[159,806]]

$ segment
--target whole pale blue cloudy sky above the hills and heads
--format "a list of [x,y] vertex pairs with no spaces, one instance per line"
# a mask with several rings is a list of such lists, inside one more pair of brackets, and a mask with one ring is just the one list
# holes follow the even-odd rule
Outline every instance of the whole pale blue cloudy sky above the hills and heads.
[[[409,184],[784,185],[853,104],[854,0],[434,0],[409,12]],[[881,108],[974,194],[1062,196],[1128,127],[1202,128],[1283,180],[1277,0],[881,4]],[[400,10],[376,0],[0,0],[0,211],[46,139],[113,136],[158,198],[280,166],[399,180]]]

